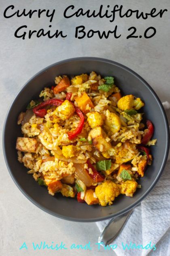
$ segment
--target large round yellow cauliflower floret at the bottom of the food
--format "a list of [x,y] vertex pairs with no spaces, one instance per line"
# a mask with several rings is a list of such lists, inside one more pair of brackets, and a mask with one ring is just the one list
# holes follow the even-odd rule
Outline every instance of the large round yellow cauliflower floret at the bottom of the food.
[[95,192],[101,206],[106,206],[107,204],[113,204],[112,201],[120,194],[120,189],[118,184],[111,180],[106,180],[96,187]]

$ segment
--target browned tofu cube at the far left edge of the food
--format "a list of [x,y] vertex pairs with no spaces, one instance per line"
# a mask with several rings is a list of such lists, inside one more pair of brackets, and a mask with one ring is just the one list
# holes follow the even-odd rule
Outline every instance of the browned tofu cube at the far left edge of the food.
[[36,152],[37,140],[32,138],[18,137],[16,149],[22,152]]

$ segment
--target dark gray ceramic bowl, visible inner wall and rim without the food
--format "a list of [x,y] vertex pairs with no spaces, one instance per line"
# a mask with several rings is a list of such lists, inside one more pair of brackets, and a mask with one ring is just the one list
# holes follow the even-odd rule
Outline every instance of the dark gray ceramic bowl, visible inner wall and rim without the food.
[[[21,128],[17,125],[17,117],[21,111],[25,111],[30,100],[38,97],[43,87],[51,87],[55,76],[90,73],[92,70],[102,76],[114,76],[115,84],[124,94],[133,94],[144,101],[143,111],[146,113],[147,119],[154,124],[153,138],[157,139],[156,145],[151,147],[153,164],[147,168],[144,177],[139,180],[142,189],[137,189],[133,197],[119,195],[112,206],[106,207],[80,204],[76,198],[66,198],[60,193],[55,196],[49,195],[47,189],[38,186],[32,175],[27,174],[28,169],[17,161],[17,151],[15,150],[16,139],[18,136],[22,136]],[[6,165],[15,184],[36,206],[47,213],[67,220],[100,221],[130,210],[153,189],[161,176],[168,156],[169,128],[159,98],[138,74],[114,61],[94,57],[74,58],[60,61],[43,69],[19,91],[11,104],[4,124],[3,148]]]

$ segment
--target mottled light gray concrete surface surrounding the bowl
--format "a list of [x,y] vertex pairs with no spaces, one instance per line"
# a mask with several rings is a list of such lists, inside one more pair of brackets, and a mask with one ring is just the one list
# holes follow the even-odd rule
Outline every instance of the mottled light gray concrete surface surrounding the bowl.
[[[164,13],[162,18],[148,18],[147,20],[117,17],[114,22],[106,18],[72,17],[65,19],[63,12],[70,4],[75,9],[82,7],[98,9],[104,1],[98,0],[1,0],[0,1],[0,87],[1,87],[1,123],[3,122],[17,91],[36,72],[44,67],[63,59],[77,56],[96,56],[111,59],[130,67],[142,76],[153,87],[161,101],[170,100],[170,14]],[[55,16],[50,23],[49,18],[42,14],[40,19],[34,14],[28,17],[13,16],[10,19],[3,17],[3,12],[13,4],[16,10],[55,9]],[[106,4],[115,5],[117,1],[108,0]],[[139,9],[149,12],[152,8],[169,9],[170,1],[162,0],[122,0],[124,9]],[[12,13],[12,10],[11,10]],[[48,37],[25,40],[15,38],[15,30],[22,25],[27,25],[28,30],[40,28],[51,31],[63,30],[68,36],[49,39]],[[115,39],[112,35],[108,39],[99,39],[94,36],[90,39],[76,39],[75,27],[84,25],[86,30],[113,30],[117,25],[121,37]],[[151,39],[130,38],[126,39],[128,28],[135,26],[136,35],[143,35],[144,30],[153,26],[157,33]],[[170,117],[170,113],[168,113]],[[53,217],[36,206],[23,196],[11,179],[4,163],[2,148],[0,151],[0,255],[2,256],[34,256],[34,255],[114,255],[113,251],[98,250],[97,243],[99,231],[95,223],[75,223]],[[39,250],[34,251],[32,242],[46,241],[49,245],[60,244],[62,241],[68,247],[72,244],[85,245],[91,242],[91,250]],[[28,245],[28,250],[21,249],[23,242]]]

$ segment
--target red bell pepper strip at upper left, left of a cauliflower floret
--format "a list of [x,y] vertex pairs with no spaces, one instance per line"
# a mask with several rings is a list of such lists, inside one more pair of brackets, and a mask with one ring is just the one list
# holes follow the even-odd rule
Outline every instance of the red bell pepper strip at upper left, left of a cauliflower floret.
[[45,115],[47,114],[47,110],[44,108],[47,105],[52,105],[52,106],[60,106],[64,101],[63,100],[58,100],[58,99],[50,99],[50,100],[46,100],[45,102],[39,104],[38,106],[35,106],[34,108],[32,108],[32,110],[34,111],[34,113],[38,116],[38,117],[45,117]]

